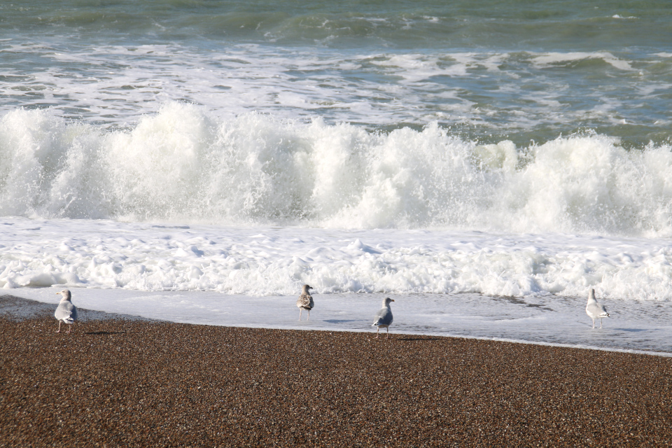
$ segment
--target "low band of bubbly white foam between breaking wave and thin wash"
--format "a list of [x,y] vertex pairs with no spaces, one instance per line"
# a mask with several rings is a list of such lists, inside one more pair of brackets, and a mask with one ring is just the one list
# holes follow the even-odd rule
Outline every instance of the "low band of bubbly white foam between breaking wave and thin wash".
[[668,239],[3,218],[0,243],[6,289],[672,300]]

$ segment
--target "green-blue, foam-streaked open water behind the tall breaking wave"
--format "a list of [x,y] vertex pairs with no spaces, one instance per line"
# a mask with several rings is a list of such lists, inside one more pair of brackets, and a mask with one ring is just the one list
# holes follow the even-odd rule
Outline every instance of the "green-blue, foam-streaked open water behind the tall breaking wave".
[[132,125],[220,114],[519,144],[670,137],[668,1],[22,1],[0,5],[2,111]]

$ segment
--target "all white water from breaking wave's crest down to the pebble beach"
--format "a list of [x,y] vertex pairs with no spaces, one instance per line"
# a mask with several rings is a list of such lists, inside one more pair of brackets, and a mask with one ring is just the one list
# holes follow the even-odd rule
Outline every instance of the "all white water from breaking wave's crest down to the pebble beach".
[[[517,148],[172,103],[129,131],[0,121],[0,286],[169,321],[666,352],[667,147],[597,134]],[[302,284],[314,287],[297,321]],[[593,330],[589,288],[611,317]]]

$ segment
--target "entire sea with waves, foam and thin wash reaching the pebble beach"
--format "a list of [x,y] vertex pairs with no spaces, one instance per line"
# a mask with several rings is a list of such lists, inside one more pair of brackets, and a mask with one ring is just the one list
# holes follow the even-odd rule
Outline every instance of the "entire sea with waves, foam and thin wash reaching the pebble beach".
[[669,350],[670,23],[668,1],[0,3],[0,286],[274,326],[236,301],[307,282],[350,314],[393,295],[400,331],[583,345],[592,287],[622,329],[592,345]]

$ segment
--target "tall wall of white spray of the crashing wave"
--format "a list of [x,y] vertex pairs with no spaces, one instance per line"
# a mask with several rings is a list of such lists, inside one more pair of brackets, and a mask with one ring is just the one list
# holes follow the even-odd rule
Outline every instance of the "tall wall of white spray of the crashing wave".
[[0,214],[670,237],[670,149],[594,133],[482,145],[436,123],[367,132],[177,102],[125,131],[17,109],[0,120]]

